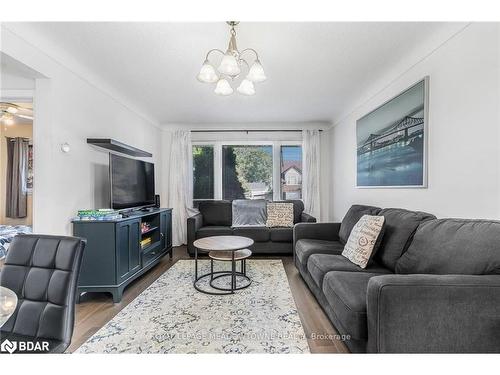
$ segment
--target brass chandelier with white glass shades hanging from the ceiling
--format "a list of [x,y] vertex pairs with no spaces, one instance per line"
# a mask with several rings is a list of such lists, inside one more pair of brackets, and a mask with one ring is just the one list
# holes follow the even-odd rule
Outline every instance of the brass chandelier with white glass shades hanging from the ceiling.
[[[234,90],[230,82],[235,82],[235,80],[242,75],[242,72],[246,72],[246,76],[236,89],[236,91],[242,95],[254,95],[254,83],[266,80],[264,68],[262,68],[259,61],[257,51],[253,48],[246,48],[239,51],[236,46],[236,30],[234,27],[238,25],[238,23],[239,22],[236,21],[227,22],[227,24],[231,26],[231,37],[229,38],[227,51],[223,52],[216,48],[208,51],[205,62],[201,66],[200,73],[198,74],[198,81],[200,82],[217,83],[214,90],[217,95],[231,95]],[[222,54],[222,60],[217,70],[215,70],[214,65],[212,65],[208,59],[213,52]],[[255,55],[255,60],[252,65],[243,58],[243,55],[248,55],[249,53]]]

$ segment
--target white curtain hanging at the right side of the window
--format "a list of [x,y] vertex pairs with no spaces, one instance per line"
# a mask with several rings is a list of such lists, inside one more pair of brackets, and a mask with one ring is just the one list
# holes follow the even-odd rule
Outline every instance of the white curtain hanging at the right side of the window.
[[320,140],[319,130],[302,131],[303,181],[302,199],[304,211],[320,220],[319,171]]

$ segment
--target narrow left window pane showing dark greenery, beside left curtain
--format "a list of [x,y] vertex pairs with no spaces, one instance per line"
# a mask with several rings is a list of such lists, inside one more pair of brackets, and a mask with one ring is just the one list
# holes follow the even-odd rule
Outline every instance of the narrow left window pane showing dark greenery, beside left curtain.
[[193,146],[193,199],[214,198],[214,146]]

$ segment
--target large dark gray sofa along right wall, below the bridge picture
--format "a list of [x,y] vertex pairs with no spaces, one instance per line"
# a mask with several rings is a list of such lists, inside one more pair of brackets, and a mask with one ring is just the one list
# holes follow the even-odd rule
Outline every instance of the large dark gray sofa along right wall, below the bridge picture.
[[[385,217],[366,269],[341,255],[363,214]],[[500,352],[499,221],[355,205],[297,224],[294,261],[353,352]]]

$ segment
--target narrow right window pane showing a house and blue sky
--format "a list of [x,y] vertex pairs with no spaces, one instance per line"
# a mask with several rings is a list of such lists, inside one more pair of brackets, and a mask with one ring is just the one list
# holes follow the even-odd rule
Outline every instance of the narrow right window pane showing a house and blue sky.
[[302,198],[302,147],[281,146],[281,199]]

